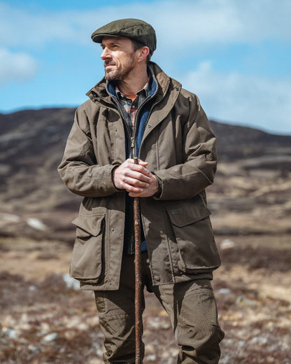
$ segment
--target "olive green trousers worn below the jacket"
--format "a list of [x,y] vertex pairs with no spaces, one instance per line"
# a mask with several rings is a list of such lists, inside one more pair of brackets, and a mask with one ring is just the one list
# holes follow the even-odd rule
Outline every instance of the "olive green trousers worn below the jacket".
[[[176,343],[180,346],[177,363],[217,364],[224,332],[218,324],[211,281],[197,279],[152,286],[148,253],[141,255],[143,288],[146,286],[155,293],[169,314]],[[94,294],[105,336],[104,363],[134,363],[134,257],[122,258],[119,290],[95,290]],[[144,297],[142,307],[145,307]]]

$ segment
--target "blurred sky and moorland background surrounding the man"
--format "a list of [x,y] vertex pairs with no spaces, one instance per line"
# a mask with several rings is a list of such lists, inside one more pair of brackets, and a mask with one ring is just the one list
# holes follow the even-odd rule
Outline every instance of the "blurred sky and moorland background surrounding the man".
[[[222,267],[222,364],[290,364],[291,2],[0,1],[0,362],[102,363],[92,293],[69,278],[80,197],[57,175],[76,107],[104,76],[92,32],[141,18],[152,61],[198,95],[218,141],[207,189]],[[147,295],[144,363],[176,363]]]

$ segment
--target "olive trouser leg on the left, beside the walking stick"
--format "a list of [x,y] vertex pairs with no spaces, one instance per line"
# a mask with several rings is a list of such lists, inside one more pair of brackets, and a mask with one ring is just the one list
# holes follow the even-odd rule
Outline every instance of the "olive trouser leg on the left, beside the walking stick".
[[[99,323],[104,332],[104,363],[135,362],[134,258],[122,259],[119,290],[94,291]],[[142,293],[142,311],[144,310]],[[141,355],[144,355],[142,344]]]

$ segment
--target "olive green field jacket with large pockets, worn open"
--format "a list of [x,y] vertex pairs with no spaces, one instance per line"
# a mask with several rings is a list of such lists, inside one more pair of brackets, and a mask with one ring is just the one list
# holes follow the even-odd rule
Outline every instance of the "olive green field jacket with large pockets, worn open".
[[[150,62],[157,94],[139,157],[162,181],[159,198],[140,199],[154,285],[211,274],[220,265],[205,188],[216,169],[215,137],[195,94]],[[76,111],[59,175],[83,196],[70,274],[83,289],[117,290],[125,227],[125,191],[113,169],[126,159],[125,127],[103,79]]]

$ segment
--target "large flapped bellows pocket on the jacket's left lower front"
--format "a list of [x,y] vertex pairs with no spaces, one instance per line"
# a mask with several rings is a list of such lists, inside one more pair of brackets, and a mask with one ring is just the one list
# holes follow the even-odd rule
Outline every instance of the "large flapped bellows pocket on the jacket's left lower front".
[[70,275],[80,281],[98,283],[103,274],[105,214],[79,215],[76,225]]

